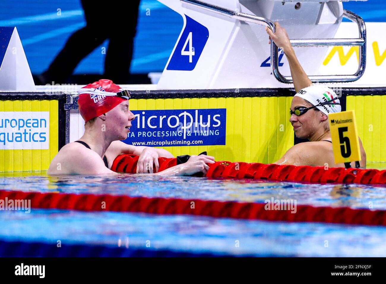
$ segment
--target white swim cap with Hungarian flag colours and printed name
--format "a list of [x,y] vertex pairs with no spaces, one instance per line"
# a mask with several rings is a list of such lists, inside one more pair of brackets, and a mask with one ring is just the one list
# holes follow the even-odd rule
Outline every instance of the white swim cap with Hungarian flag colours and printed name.
[[[328,101],[340,103],[339,99],[332,101],[332,99],[337,97],[337,94],[335,94],[333,90],[320,85],[312,85],[310,87],[303,88],[294,97],[301,97],[302,99],[308,100],[308,102],[312,105],[318,105]],[[329,113],[340,112],[342,107],[340,104],[325,104],[318,105],[317,109],[328,116]]]

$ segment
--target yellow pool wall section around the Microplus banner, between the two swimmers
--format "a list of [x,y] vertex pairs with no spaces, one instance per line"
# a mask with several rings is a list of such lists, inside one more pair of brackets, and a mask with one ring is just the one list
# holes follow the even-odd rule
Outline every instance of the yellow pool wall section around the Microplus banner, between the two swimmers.
[[226,145],[164,147],[174,156],[207,151],[216,160],[272,163],[293,146],[291,97],[130,99],[130,109],[227,109]]

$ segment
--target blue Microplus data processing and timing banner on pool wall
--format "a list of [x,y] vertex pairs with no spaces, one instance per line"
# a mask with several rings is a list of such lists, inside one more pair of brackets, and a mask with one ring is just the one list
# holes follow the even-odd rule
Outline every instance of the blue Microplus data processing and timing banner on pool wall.
[[135,146],[225,145],[227,109],[132,111],[124,141]]

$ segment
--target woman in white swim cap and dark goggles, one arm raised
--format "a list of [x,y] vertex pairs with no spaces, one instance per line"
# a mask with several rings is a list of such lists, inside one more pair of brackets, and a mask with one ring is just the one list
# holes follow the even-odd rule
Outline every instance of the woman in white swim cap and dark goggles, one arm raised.
[[[345,167],[343,163],[335,164],[334,162],[328,125],[328,114],[341,111],[339,99],[330,88],[312,84],[296,58],[287,32],[278,22],[275,22],[275,26],[276,33],[266,28],[269,43],[272,39],[277,46],[283,49],[297,92],[292,99],[289,121],[296,137],[310,141],[291,147],[275,164]],[[350,164],[352,168],[366,168],[366,153],[361,139],[359,139],[359,146],[361,161],[352,162]]]

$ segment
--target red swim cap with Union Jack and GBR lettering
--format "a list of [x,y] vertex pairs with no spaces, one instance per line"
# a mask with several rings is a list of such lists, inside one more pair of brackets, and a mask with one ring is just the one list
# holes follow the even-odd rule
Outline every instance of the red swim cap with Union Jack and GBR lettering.
[[[112,80],[101,79],[92,84],[88,84],[83,88],[95,88],[100,92],[111,92],[118,93],[122,91],[122,88],[115,85]],[[82,89],[82,88],[81,88]],[[81,91],[80,89],[80,91]],[[114,107],[119,105],[126,99],[118,96],[109,96],[102,94],[80,94],[78,97],[78,107],[80,115],[83,117],[85,122],[90,119],[105,114],[111,111]]]

